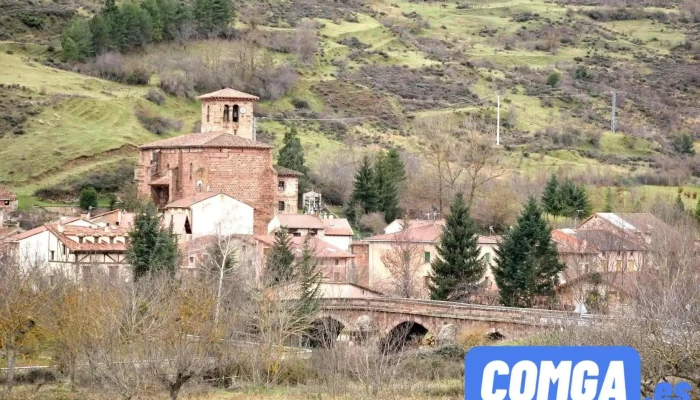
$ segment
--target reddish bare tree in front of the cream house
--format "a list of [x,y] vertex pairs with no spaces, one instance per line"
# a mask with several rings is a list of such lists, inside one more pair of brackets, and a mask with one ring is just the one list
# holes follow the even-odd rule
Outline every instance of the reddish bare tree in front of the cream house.
[[381,255],[384,267],[391,277],[386,284],[393,295],[406,298],[422,297],[420,277],[418,272],[425,264],[424,247],[411,239],[408,225],[394,235],[391,249]]

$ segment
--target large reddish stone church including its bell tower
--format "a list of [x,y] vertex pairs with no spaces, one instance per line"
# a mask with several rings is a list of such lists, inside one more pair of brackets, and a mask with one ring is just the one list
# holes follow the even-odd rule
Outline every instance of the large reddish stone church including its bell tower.
[[199,99],[202,132],[139,147],[135,171],[139,195],[162,210],[200,192],[224,193],[253,207],[254,231],[265,234],[275,215],[297,212],[292,199],[298,197],[299,176],[287,169],[278,173],[272,147],[255,140],[257,97],[223,89]]

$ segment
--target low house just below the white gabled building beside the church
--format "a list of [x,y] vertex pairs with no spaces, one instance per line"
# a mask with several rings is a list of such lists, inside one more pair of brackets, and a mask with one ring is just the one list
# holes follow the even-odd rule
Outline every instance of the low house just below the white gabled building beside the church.
[[180,270],[182,277],[199,276],[203,269],[211,270],[214,266],[210,262],[213,254],[229,253],[233,256],[233,268],[237,280],[250,279],[250,283],[257,281],[257,249],[252,235],[206,235],[181,242]]

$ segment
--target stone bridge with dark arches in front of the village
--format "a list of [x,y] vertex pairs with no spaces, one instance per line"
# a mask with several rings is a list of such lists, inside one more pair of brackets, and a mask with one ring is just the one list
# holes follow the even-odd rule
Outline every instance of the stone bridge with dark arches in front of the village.
[[[497,337],[512,339],[562,325],[588,324],[599,318],[566,311],[384,297],[326,298],[320,315],[333,336],[345,332],[382,338],[427,333],[438,337],[444,326],[452,325],[456,334],[483,330],[484,334],[497,332]],[[329,323],[333,329],[329,329]]]

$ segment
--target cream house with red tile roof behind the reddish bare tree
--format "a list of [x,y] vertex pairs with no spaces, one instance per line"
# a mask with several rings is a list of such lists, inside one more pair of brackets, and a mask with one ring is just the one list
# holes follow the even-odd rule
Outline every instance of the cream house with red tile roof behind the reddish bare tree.
[[[386,287],[391,286],[397,279],[395,275],[399,271],[387,265],[389,257],[396,252],[413,252],[413,266],[410,273],[416,281],[423,296],[427,296],[429,274],[431,272],[431,262],[437,257],[437,245],[440,241],[440,234],[444,228],[443,221],[432,221],[430,224],[418,223],[416,227],[407,226],[398,232],[372,236],[364,239],[368,244],[369,251],[369,287],[381,288],[387,292]],[[390,228],[395,230],[395,228]],[[479,236],[478,245],[482,258],[487,262],[489,268],[482,284],[486,290],[497,290],[490,266],[494,264],[494,251],[498,246],[498,238],[489,236]]]

